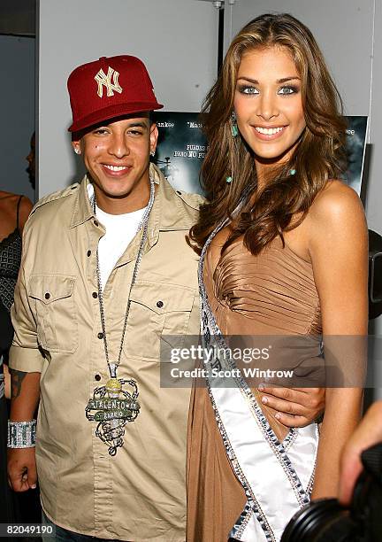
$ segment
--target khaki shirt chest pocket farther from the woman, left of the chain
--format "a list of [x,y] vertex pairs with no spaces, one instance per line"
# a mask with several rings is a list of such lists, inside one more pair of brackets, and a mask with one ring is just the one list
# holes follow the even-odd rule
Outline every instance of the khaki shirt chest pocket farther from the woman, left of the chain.
[[75,276],[32,275],[28,298],[34,307],[37,337],[44,350],[73,353],[78,347],[78,322],[73,291]]

